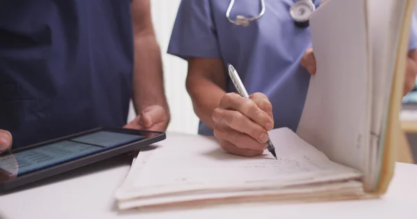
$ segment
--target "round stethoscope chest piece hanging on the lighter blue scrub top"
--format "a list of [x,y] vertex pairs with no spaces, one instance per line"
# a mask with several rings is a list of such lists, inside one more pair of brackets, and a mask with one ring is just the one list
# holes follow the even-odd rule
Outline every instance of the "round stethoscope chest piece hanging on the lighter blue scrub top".
[[296,1],[290,8],[290,15],[295,21],[295,26],[300,28],[306,28],[309,26],[309,19],[314,10],[316,10],[316,6],[313,1]]

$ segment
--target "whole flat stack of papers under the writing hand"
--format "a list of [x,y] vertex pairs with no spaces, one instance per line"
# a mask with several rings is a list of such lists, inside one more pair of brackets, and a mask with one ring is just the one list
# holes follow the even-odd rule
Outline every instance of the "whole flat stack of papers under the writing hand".
[[272,130],[270,136],[278,160],[268,151],[256,158],[231,155],[210,137],[168,135],[169,144],[139,153],[117,191],[118,207],[363,195],[359,171],[330,161],[288,128]]

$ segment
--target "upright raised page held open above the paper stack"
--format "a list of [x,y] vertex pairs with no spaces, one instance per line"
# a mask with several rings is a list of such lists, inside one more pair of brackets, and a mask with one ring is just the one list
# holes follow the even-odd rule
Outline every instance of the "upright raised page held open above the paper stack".
[[369,146],[365,1],[327,1],[311,16],[317,72],[297,134],[338,164],[366,172]]

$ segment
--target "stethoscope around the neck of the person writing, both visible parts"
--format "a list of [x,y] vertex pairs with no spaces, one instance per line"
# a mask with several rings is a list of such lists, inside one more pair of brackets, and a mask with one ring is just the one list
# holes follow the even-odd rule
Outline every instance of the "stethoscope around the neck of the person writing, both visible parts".
[[[227,8],[226,17],[231,24],[238,26],[249,26],[250,22],[255,21],[265,14],[265,0],[261,0],[261,12],[256,17],[245,17],[243,15],[237,15],[236,21],[230,19],[230,11],[233,8],[234,0],[231,0],[229,3],[229,8]],[[295,22],[295,26],[300,28],[306,28],[309,26],[310,15],[316,10],[316,6],[313,3],[313,0],[298,0],[290,7],[290,15]]]

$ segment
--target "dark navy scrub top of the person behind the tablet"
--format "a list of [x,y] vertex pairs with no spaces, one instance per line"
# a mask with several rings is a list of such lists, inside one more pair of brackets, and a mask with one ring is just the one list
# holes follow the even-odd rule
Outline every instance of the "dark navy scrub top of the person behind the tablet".
[[3,1],[0,129],[13,148],[126,123],[131,0]]

